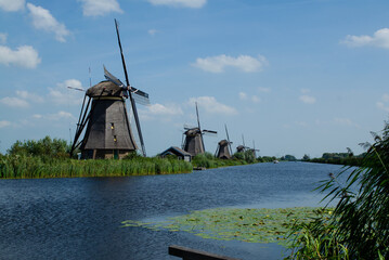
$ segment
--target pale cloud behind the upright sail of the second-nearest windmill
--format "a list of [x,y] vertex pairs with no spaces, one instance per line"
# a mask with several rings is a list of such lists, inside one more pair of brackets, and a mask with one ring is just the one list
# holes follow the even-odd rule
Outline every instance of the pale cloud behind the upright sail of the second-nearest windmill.
[[195,102],[197,102],[200,109],[206,110],[208,114],[237,115],[237,110],[234,107],[219,103],[213,96],[198,96],[189,100],[191,105],[194,105]]

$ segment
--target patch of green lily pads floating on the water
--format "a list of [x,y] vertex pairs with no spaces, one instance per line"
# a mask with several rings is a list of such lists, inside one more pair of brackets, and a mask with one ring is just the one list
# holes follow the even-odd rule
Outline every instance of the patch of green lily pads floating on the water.
[[287,245],[286,236],[296,221],[327,218],[330,209],[298,207],[278,209],[215,208],[192,211],[166,221],[142,222],[127,220],[122,226],[141,226],[155,231],[184,231],[203,238],[277,243]]

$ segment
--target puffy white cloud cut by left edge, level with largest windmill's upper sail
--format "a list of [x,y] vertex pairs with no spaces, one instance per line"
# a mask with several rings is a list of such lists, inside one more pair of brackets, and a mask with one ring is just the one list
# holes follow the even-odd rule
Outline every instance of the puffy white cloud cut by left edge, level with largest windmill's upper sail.
[[35,68],[41,62],[38,52],[30,46],[22,46],[16,51],[0,46],[0,63],[20,67]]

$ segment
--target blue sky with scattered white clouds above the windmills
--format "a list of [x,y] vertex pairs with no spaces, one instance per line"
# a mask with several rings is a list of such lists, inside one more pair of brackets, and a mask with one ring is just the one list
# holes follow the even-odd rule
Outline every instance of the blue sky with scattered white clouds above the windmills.
[[[70,142],[83,93],[125,81],[147,155],[181,146],[196,125],[215,153],[354,154],[389,113],[389,2],[385,0],[0,0],[0,153],[46,135]],[[130,104],[128,103],[128,107]]]

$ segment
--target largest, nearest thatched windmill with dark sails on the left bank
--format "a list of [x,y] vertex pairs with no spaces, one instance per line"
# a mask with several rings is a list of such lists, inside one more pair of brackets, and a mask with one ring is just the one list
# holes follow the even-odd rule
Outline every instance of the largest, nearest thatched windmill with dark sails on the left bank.
[[[129,152],[139,148],[127,114],[127,99],[130,100],[142,154],[146,156],[135,102],[150,104],[148,94],[131,87],[129,83],[116,20],[115,26],[126,76],[126,86],[104,66],[104,76],[107,80],[101,81],[86,91],[70,156],[77,147],[81,150],[81,158],[93,159],[121,158]],[[88,102],[86,105],[87,96]],[[83,130],[83,139],[78,141]]]

